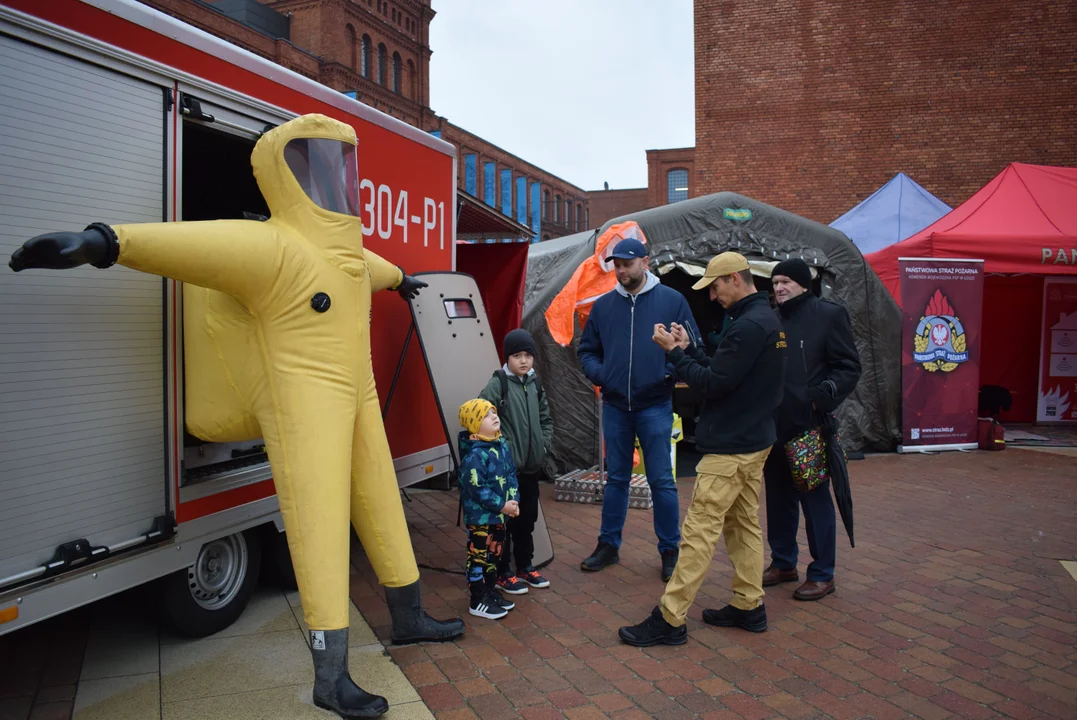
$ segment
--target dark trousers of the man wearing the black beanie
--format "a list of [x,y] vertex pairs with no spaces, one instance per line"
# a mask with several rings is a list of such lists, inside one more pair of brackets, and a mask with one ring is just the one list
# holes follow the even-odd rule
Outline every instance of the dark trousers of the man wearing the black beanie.
[[811,552],[808,579],[812,582],[834,580],[838,523],[830,499],[830,483],[825,482],[810,493],[797,490],[781,446],[771,451],[763,472],[767,483],[767,542],[771,564],[780,570],[797,569],[797,528],[800,508],[803,508],[805,532]]

